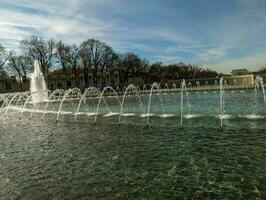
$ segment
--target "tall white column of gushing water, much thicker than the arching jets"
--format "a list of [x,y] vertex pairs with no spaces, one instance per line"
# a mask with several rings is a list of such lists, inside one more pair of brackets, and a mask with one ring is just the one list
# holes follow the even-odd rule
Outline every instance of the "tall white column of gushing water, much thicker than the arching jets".
[[30,91],[32,103],[48,101],[48,90],[38,60],[34,62],[34,72],[31,76]]

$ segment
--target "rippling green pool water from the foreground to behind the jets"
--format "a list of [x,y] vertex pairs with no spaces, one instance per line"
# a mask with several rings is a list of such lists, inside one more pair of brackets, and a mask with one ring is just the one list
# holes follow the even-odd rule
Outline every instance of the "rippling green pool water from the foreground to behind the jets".
[[[143,97],[144,110],[147,97]],[[190,95],[191,114],[180,127],[180,95],[158,95],[149,126],[135,96],[118,115],[1,111],[0,199],[265,199],[265,107],[253,93],[225,96],[230,117],[220,128],[219,95]],[[106,98],[112,113],[117,101]],[[95,109],[87,100],[82,112]],[[78,101],[63,104],[74,112]],[[58,109],[58,102],[49,105]],[[187,114],[186,102],[184,114]],[[30,109],[33,105],[28,105]],[[41,109],[40,104],[35,109]],[[138,106],[138,107],[137,107]],[[54,109],[53,109],[54,107]],[[86,110],[87,109],[87,110]],[[134,113],[135,115],[130,115]],[[145,112],[144,112],[145,113]],[[167,117],[161,114],[172,114]],[[31,120],[29,120],[31,117]]]

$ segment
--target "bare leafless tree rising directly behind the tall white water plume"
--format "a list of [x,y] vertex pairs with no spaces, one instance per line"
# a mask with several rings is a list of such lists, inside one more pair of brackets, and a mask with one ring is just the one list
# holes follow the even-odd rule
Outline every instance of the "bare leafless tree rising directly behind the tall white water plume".
[[30,36],[20,42],[20,49],[25,56],[31,59],[31,63],[33,64],[34,60],[40,62],[41,70],[45,77],[47,77],[55,61],[55,47],[54,40],[45,41],[37,36]]

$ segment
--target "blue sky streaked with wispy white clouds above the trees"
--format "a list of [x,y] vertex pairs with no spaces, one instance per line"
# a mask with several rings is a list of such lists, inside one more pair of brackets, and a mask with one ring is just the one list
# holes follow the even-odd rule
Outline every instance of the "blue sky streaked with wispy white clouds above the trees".
[[266,66],[265,0],[0,0],[0,44],[29,35],[106,42],[150,62]]

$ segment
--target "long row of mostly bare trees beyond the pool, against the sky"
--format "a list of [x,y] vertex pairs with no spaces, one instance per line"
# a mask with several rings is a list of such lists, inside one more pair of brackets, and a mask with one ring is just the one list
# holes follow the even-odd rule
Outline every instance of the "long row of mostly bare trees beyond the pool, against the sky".
[[18,54],[7,51],[0,45],[0,70],[15,75],[21,80],[33,71],[33,63],[38,60],[45,77],[49,72],[62,69],[67,77],[67,69],[71,68],[77,84],[77,69],[84,70],[85,83],[88,84],[88,73],[93,74],[94,83],[97,83],[97,74],[119,71],[120,82],[128,82],[130,77],[142,77],[148,82],[166,82],[175,79],[207,78],[217,76],[217,72],[203,69],[200,65],[178,63],[163,65],[162,63],[149,64],[146,59],[128,52],[119,54],[104,42],[88,39],[80,45],[67,44],[62,40],[44,40],[37,36],[30,36],[20,41]]

